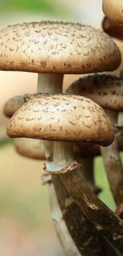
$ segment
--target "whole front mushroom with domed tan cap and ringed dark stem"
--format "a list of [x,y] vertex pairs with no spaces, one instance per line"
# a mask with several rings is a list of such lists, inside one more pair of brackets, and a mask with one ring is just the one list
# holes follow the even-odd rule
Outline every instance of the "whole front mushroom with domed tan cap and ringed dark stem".
[[[123,253],[123,222],[89,188],[81,176],[81,165],[73,158],[74,141],[108,146],[114,140],[113,126],[103,109],[82,96],[63,93],[41,95],[24,104],[13,115],[6,132],[9,137],[54,141],[53,162],[45,163],[44,170],[60,175],[83,213],[100,234]],[[72,202],[68,199],[68,205]]]

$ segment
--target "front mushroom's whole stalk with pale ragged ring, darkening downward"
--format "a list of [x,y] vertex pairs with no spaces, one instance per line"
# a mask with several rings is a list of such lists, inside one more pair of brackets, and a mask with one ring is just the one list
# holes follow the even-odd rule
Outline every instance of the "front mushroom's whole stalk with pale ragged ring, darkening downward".
[[[45,163],[44,170],[60,175],[61,181],[82,212],[92,221],[99,233],[123,253],[123,222],[92,192],[82,177],[80,164],[75,162],[73,143],[54,141],[53,162]],[[66,205],[72,203],[73,200],[68,197]]]

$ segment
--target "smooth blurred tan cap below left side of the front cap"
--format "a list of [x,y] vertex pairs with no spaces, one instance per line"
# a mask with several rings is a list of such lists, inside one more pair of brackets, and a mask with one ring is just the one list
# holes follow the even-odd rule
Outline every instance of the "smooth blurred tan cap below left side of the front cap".
[[29,158],[45,160],[45,149],[42,140],[16,138],[14,146],[18,154]]

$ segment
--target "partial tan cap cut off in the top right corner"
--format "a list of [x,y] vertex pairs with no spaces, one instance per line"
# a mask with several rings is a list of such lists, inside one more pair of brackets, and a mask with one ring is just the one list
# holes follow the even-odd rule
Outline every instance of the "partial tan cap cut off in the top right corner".
[[103,0],[102,10],[110,20],[123,24],[123,1]]

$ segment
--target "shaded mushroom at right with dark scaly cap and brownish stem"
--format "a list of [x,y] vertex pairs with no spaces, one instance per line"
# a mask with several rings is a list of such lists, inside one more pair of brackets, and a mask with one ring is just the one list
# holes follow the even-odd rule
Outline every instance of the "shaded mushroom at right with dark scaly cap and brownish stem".
[[[86,96],[96,101],[107,113],[112,124],[118,122],[123,110],[123,78],[113,75],[90,75],[80,78],[67,89],[67,93]],[[98,120],[95,121],[97,125]],[[113,143],[100,147],[110,189],[117,205],[123,202],[123,168],[118,152],[117,137]]]

